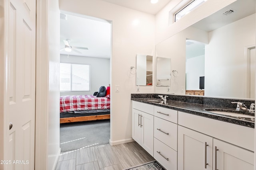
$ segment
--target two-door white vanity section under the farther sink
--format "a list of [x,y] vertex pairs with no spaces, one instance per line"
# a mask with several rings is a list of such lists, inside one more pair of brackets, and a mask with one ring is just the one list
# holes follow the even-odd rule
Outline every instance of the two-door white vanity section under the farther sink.
[[154,149],[154,106],[132,101],[132,139],[151,156]]

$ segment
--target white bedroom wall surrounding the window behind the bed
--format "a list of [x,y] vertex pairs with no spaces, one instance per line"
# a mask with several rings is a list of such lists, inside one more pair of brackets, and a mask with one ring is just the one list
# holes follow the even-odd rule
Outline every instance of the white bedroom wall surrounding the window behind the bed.
[[60,62],[90,65],[90,92],[60,92],[60,96],[93,95],[100,86],[107,87],[110,84],[110,59],[60,55]]

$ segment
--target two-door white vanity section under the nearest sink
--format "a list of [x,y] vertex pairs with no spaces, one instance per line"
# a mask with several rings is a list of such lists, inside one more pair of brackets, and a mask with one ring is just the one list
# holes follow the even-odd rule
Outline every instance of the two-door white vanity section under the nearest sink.
[[253,170],[253,128],[183,112],[178,117],[178,170]]

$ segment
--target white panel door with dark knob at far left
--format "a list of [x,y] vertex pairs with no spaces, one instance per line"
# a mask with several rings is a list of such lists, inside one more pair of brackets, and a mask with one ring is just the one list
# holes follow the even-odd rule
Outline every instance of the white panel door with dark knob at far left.
[[7,24],[7,97],[12,128],[5,146],[6,166],[12,170],[34,169],[35,148],[35,66],[36,0],[8,1]]

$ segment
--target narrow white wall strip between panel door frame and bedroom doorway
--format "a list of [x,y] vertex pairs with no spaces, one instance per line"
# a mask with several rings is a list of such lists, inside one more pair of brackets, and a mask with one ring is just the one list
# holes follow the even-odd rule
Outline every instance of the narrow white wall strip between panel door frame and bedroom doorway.
[[48,1],[48,170],[56,166],[60,153],[60,11],[58,1]]

